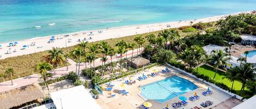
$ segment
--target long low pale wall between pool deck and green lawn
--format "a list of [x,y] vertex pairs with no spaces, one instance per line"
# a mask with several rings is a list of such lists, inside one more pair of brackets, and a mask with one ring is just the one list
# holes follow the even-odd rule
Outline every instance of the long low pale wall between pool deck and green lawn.
[[168,63],[166,63],[166,65],[169,66],[169,67],[171,67],[171,68],[174,68],[174,69],[180,71],[181,73],[184,73],[184,74],[187,74],[187,75],[189,75],[189,76],[192,76],[193,78],[198,79],[198,80],[200,80],[200,81],[202,81],[202,82],[204,82],[204,83],[206,83],[206,84],[208,84],[208,85],[210,85],[210,86],[212,86],[212,87],[214,87],[214,88],[216,88],[216,89],[219,89],[219,90],[222,91],[222,92],[225,92],[225,93],[227,93],[227,94],[229,94],[229,95],[231,95],[231,96],[233,96],[233,97],[236,97],[237,99],[242,100],[242,97],[240,97],[239,95],[234,94],[234,93],[231,93],[231,92],[229,92],[229,91],[226,91],[225,89],[219,88],[218,86],[216,86],[215,84],[212,84],[211,82],[207,82],[207,81],[205,81],[205,80],[203,80],[203,79],[197,78],[197,76],[195,76],[195,75],[193,75],[193,74],[191,74],[191,73],[188,73],[188,72],[186,72],[186,71],[184,71],[184,70],[182,70],[182,69],[180,69],[180,68],[176,68],[176,67],[174,67],[174,66],[171,66],[171,65],[169,65]]

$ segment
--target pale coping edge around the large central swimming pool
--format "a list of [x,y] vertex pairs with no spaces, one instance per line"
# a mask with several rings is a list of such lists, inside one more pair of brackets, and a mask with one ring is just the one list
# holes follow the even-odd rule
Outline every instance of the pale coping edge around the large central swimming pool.
[[[170,76],[168,76],[168,77],[166,77],[166,78],[170,78],[171,76],[178,76],[178,77],[182,78],[180,75],[170,75]],[[164,79],[166,79],[166,78],[164,78]],[[153,82],[150,82],[150,83],[148,83],[148,84],[141,85],[140,87],[146,86],[146,85],[149,85],[149,84],[153,84],[154,82],[162,81],[162,80],[164,80],[164,79],[160,79],[160,80],[157,80],[157,81],[153,81]],[[182,79],[184,79],[184,78],[182,78]],[[187,80],[187,79],[185,79],[185,80]],[[189,81],[189,80],[187,80],[187,81]],[[191,81],[189,81],[189,82],[191,82]],[[192,82],[192,83],[194,84],[194,82]],[[195,85],[195,84],[194,84],[194,85]],[[197,86],[197,85],[195,85],[195,86]],[[139,89],[140,92],[139,92],[139,94],[137,94],[137,95],[139,95],[139,97],[142,98],[142,99],[144,99],[144,100],[150,100],[150,99],[146,99],[145,97],[143,97],[142,95],[140,95],[140,93],[142,92],[141,89],[140,89],[140,87],[138,87],[138,89]],[[194,89],[194,90],[192,90],[192,91],[196,91],[196,90],[200,89],[199,86],[197,86],[197,87],[198,87],[198,88],[196,88],[196,89]],[[192,91],[189,91],[189,92],[192,92]],[[184,94],[187,94],[187,93],[189,93],[189,92],[186,92],[186,93],[184,93]],[[182,95],[184,95],[184,94],[178,95],[178,97],[180,97],[180,96],[182,96]],[[176,98],[178,98],[178,97],[171,98],[171,99],[166,100],[166,101],[164,101],[164,102],[159,102],[159,101],[157,101],[157,100],[153,100],[153,101],[156,101],[156,102],[158,102],[159,104],[164,104],[165,102],[168,102],[168,101],[170,101],[170,100],[172,100],[172,99],[176,99]]]

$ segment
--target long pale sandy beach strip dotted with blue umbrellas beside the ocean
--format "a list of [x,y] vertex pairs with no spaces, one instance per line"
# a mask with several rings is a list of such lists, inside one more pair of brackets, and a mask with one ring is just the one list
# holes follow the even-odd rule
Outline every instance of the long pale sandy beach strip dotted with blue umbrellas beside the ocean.
[[[246,12],[251,12],[251,11],[246,11]],[[242,12],[237,12],[229,15],[236,15],[240,13]],[[224,18],[225,16],[227,15],[200,18],[198,20],[189,20],[189,21],[131,25],[126,27],[80,31],[78,33],[55,35],[55,38],[54,38],[55,40],[53,40],[53,42],[50,41],[52,36],[45,36],[45,37],[35,37],[33,39],[28,39],[28,40],[16,41],[18,42],[16,46],[11,46],[11,47],[9,46],[9,43],[14,43],[14,42],[2,43],[0,44],[2,46],[0,49],[0,59],[42,52],[44,50],[50,50],[52,49],[52,47],[58,47],[58,48],[70,47],[80,43],[79,40],[82,41],[86,39],[86,41],[88,42],[94,42],[94,41],[100,41],[100,40],[114,39],[118,37],[143,34],[143,33],[149,33],[152,31],[190,25],[190,21],[192,21],[193,24],[199,23],[199,22],[204,23],[204,22],[218,21],[221,18]],[[170,25],[170,27],[167,25]],[[92,39],[90,39],[90,37]]]

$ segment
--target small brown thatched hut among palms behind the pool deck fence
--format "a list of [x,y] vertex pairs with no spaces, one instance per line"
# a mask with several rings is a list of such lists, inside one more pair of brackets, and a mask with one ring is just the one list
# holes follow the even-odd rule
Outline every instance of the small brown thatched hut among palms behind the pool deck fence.
[[137,56],[132,59],[131,65],[135,68],[140,68],[147,65],[148,63],[150,63],[150,60]]

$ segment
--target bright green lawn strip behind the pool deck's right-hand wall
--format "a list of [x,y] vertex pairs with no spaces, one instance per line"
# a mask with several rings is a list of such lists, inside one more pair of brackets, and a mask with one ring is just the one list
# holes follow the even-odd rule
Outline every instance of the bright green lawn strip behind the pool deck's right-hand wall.
[[[215,70],[210,66],[203,65],[203,66],[200,66],[198,68],[198,73],[199,74],[204,74],[206,76],[209,76],[210,78],[213,78],[213,76],[215,75]],[[223,77],[225,77],[225,72],[222,72],[221,70],[218,70],[218,72],[215,76],[215,81],[223,82],[223,84],[225,84],[225,85],[227,85],[228,87],[231,88],[232,82],[229,81],[226,78],[223,79]],[[237,94],[239,94],[241,87],[242,87],[242,83],[240,81],[235,81],[234,82],[233,89],[235,89]]]

